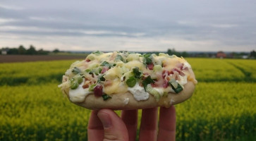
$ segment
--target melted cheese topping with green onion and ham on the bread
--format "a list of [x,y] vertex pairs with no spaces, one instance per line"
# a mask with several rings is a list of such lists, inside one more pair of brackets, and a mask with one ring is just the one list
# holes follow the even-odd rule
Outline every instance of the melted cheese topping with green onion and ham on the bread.
[[[65,73],[63,84],[59,87],[63,89],[72,87],[71,80],[83,75],[85,78],[83,81],[87,80],[86,85],[83,82],[75,90],[69,91],[72,102],[83,102],[87,94],[92,94],[93,92],[88,90],[88,87],[92,84],[102,85],[102,92],[105,94],[130,92],[136,100],[140,101],[149,97],[149,93],[145,92],[144,87],[141,86],[142,78],[149,75],[152,79],[155,79],[153,88],[161,96],[166,92],[174,93],[169,83],[167,83],[173,78],[181,87],[188,81],[197,82],[194,77],[189,75],[191,66],[183,58],[160,53],[159,56],[152,54],[148,59],[152,61],[152,64],[146,62],[147,60],[142,54],[117,51],[106,54],[102,52],[92,53],[85,60],[76,61],[71,65]],[[156,67],[152,70],[149,65]],[[128,87],[126,80],[134,75],[133,68],[139,68],[142,77],[136,78],[137,82],[134,87]],[[75,72],[74,69],[76,69]],[[102,77],[104,79],[101,79]]]

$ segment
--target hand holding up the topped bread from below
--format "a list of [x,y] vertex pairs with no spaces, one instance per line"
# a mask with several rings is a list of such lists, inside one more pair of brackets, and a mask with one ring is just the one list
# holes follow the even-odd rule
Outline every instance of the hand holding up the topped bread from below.
[[[140,141],[175,140],[176,111],[160,108],[157,135],[158,108],[143,109],[140,123]],[[124,110],[121,118],[110,109],[92,111],[87,129],[89,141],[136,139],[138,110]]]

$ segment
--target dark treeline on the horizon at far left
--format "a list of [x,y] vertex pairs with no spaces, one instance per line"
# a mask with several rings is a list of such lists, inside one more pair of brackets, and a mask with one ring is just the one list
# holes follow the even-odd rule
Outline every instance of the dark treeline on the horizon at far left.
[[[58,49],[54,49],[52,52],[58,52]],[[48,55],[51,51],[45,51],[44,49],[35,49],[33,45],[30,45],[28,49],[25,49],[23,45],[18,48],[5,47],[1,49],[1,54],[20,54],[20,55]]]

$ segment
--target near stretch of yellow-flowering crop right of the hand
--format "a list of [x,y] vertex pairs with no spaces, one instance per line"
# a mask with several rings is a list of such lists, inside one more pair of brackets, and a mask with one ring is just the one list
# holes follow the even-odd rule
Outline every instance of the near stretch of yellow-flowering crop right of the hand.
[[256,133],[256,87],[246,82],[200,82],[176,106],[181,140],[240,139]]

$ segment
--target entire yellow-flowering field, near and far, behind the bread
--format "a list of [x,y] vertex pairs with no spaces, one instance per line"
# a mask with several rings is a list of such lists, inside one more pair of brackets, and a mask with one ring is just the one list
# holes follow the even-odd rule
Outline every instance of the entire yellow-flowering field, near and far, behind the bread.
[[[256,61],[187,60],[198,85],[176,105],[176,140],[255,140]],[[87,139],[90,110],[57,87],[73,61],[0,63],[0,140]]]

